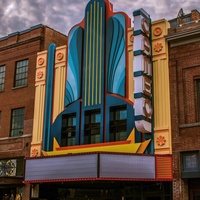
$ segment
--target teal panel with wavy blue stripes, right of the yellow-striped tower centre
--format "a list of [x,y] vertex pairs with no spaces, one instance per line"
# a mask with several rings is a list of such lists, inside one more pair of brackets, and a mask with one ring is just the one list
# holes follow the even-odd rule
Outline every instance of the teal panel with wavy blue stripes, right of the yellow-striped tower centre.
[[116,14],[107,22],[107,91],[125,96],[125,17]]

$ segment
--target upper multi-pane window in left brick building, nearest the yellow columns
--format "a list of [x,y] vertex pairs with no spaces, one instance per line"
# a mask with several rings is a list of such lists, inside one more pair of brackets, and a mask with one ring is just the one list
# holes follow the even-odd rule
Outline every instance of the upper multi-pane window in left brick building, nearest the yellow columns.
[[28,60],[22,60],[16,63],[15,84],[14,87],[27,85]]

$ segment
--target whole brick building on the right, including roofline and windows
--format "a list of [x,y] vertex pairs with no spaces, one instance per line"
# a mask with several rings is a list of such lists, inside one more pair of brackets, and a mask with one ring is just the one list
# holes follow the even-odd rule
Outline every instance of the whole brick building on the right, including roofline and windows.
[[200,198],[200,13],[169,21],[173,199]]

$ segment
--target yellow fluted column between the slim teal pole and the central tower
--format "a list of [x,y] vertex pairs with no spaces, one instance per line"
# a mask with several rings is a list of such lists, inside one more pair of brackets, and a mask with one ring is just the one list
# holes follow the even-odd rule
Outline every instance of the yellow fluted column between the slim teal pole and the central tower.
[[66,87],[66,52],[66,45],[56,48],[52,122],[54,122],[58,114],[64,110],[64,96]]

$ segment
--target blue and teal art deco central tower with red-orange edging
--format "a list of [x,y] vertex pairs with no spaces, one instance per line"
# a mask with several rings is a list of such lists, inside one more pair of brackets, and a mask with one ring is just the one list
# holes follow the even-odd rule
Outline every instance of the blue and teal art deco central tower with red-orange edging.
[[[108,0],[90,0],[84,20],[70,30],[64,110],[51,127],[51,136],[59,144],[62,143],[63,116],[74,116],[76,145],[123,140],[133,131],[130,27],[130,18],[122,12],[114,13]],[[110,121],[119,110],[124,113],[120,118],[124,128],[118,134]],[[125,119],[122,115],[129,117]],[[111,138],[113,134],[118,135]]]

